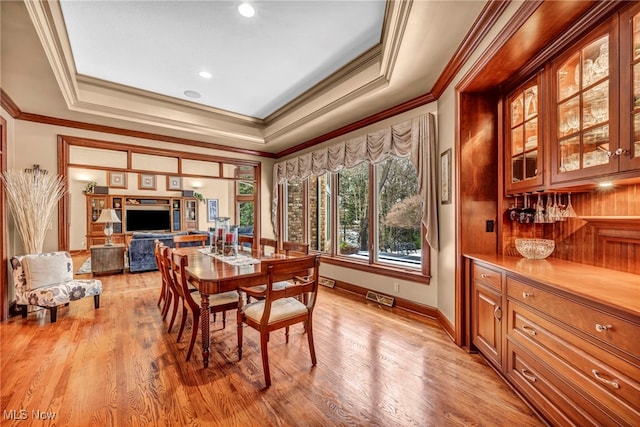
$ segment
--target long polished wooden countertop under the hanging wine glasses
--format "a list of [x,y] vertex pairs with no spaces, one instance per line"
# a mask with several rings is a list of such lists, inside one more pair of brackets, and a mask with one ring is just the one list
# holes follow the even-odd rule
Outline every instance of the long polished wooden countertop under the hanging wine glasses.
[[555,258],[530,260],[521,257],[465,254],[507,272],[528,277],[538,283],[621,310],[640,323],[640,275],[594,267]]

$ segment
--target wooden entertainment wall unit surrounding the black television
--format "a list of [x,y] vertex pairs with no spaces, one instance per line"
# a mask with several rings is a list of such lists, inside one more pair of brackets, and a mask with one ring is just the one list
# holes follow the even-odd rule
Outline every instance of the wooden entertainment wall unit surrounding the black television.
[[[87,235],[86,247],[104,245],[107,238],[104,224],[97,223],[105,208],[114,209],[122,222],[113,224],[113,243],[128,243],[125,234],[127,209],[162,208],[169,211],[170,224],[166,230],[187,231],[198,229],[198,200],[192,197],[138,197],[134,195],[87,194]],[[130,233],[129,233],[130,234]]]

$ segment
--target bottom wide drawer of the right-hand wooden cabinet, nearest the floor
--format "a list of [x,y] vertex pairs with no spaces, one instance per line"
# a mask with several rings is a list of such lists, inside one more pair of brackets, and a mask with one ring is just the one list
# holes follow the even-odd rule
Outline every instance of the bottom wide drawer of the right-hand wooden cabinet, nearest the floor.
[[[554,384],[555,375],[507,342],[507,377],[553,426],[601,425]],[[562,408],[562,409],[560,409]]]

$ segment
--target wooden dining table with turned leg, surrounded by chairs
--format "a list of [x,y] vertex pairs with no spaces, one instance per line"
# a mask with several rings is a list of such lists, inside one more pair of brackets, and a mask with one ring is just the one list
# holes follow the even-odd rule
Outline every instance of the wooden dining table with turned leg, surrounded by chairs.
[[200,325],[202,328],[202,362],[209,366],[209,296],[235,291],[240,286],[256,286],[267,283],[266,268],[263,261],[287,258],[284,254],[263,253],[260,250],[241,251],[239,256],[251,257],[260,261],[256,264],[232,265],[219,258],[198,251],[197,247],[177,248],[175,252],[186,255],[188,266],[185,268],[187,279],[200,292]]

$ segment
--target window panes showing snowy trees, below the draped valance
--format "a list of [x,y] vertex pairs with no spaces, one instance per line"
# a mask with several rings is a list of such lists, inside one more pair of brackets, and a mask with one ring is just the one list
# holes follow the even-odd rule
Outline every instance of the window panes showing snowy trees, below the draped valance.
[[428,270],[423,263],[428,245],[423,241],[418,176],[409,159],[363,162],[335,174],[285,182],[280,189],[286,201],[285,240],[308,241],[311,250],[360,264],[414,273]]

